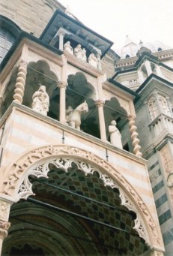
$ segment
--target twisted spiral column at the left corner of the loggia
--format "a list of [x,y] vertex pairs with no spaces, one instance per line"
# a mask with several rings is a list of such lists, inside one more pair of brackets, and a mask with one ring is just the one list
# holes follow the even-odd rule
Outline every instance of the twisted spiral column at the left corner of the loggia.
[[16,77],[15,90],[13,95],[13,102],[22,104],[22,98],[25,90],[25,80],[27,74],[27,63],[21,60],[19,64],[18,74]]

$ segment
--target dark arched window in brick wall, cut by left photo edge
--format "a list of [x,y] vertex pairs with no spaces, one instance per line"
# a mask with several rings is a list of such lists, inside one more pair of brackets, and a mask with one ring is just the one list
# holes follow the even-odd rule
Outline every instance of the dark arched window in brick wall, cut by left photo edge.
[[20,31],[21,29],[15,23],[0,15],[0,64]]

